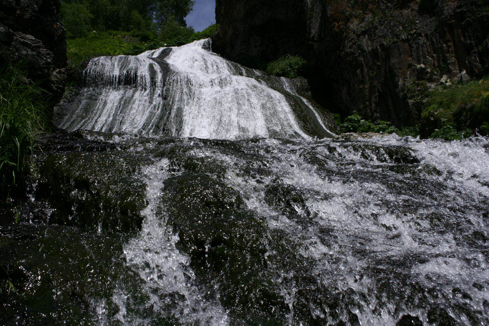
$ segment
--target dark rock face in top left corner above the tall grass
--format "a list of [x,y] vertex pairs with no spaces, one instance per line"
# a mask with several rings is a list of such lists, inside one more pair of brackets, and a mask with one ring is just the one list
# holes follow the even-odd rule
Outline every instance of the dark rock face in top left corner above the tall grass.
[[0,0],[0,64],[22,61],[29,77],[59,96],[67,65],[65,29],[57,0]]

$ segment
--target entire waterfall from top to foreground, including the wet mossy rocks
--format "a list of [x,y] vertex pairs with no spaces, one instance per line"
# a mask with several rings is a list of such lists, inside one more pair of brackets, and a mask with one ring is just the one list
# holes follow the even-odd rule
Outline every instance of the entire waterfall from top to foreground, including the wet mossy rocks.
[[208,40],[93,59],[0,224],[1,324],[488,325],[489,140],[325,138],[306,93]]

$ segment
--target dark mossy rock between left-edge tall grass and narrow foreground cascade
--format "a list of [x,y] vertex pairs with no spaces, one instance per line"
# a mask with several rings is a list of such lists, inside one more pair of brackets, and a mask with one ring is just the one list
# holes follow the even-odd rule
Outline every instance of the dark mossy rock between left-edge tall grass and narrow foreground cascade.
[[43,157],[35,197],[52,212],[40,217],[103,233],[135,234],[145,204],[139,161],[122,152],[68,152]]

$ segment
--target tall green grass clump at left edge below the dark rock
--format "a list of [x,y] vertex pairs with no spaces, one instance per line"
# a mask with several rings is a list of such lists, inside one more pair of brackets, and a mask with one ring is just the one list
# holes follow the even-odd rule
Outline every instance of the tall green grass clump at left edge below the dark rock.
[[22,65],[0,68],[0,185],[9,194],[26,170],[35,135],[44,130],[45,91],[31,85]]

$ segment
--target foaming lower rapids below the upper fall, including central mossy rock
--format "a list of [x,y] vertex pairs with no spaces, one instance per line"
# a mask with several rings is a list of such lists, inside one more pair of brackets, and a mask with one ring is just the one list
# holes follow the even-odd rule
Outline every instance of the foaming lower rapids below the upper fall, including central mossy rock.
[[109,295],[84,292],[93,323],[489,323],[487,138],[81,134],[140,157],[146,185]]

